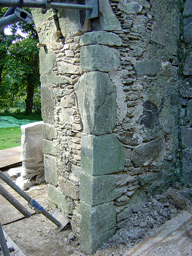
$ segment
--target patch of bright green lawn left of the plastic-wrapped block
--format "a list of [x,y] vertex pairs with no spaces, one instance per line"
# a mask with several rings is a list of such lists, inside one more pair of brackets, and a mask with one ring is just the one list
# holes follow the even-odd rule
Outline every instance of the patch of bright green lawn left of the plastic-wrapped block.
[[0,128],[0,150],[20,146],[20,127]]

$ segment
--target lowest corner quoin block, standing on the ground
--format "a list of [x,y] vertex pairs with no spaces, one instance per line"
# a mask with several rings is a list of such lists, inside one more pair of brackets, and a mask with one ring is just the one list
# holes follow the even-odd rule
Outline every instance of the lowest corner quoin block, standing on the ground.
[[115,207],[113,202],[91,206],[81,201],[80,213],[80,249],[93,254],[115,233]]

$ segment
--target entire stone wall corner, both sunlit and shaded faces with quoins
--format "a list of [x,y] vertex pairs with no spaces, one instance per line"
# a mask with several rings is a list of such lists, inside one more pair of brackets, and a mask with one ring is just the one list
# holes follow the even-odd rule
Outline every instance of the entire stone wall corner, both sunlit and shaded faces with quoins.
[[189,9],[184,42],[180,0],[98,3],[89,31],[80,11],[32,10],[48,195],[89,254],[180,176],[181,137],[184,173],[191,152]]

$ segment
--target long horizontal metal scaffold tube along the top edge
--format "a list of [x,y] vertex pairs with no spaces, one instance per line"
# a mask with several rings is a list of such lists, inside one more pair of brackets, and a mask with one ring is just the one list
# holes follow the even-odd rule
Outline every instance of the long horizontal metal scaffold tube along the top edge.
[[[20,0],[1,0],[0,7],[18,7],[20,6]],[[58,3],[51,2],[49,3],[50,8],[53,9],[77,9],[77,10],[92,10],[93,6],[87,5],[77,5],[70,3]],[[23,0],[22,7],[30,7],[30,8],[47,8],[47,1],[33,1],[33,0]]]

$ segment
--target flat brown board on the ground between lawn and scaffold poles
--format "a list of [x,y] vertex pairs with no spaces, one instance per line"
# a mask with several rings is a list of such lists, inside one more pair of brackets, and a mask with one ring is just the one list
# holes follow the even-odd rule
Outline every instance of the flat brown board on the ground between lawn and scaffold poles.
[[22,146],[0,150],[0,168],[11,167],[15,164],[22,163],[20,160],[21,148]]

